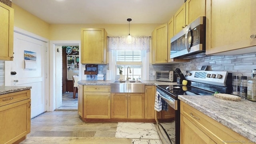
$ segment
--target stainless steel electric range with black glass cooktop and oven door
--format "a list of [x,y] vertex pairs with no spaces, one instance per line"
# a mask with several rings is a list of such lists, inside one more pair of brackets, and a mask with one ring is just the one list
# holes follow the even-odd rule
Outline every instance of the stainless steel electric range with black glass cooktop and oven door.
[[158,85],[156,96],[162,110],[157,112],[156,126],[163,144],[180,144],[180,101],[178,95],[209,95],[232,92],[232,73],[227,71],[186,71],[184,85]]

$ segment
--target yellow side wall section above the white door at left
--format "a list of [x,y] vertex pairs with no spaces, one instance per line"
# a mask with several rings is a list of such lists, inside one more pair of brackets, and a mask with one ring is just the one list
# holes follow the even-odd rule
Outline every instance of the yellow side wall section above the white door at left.
[[50,39],[50,24],[12,3],[14,26]]

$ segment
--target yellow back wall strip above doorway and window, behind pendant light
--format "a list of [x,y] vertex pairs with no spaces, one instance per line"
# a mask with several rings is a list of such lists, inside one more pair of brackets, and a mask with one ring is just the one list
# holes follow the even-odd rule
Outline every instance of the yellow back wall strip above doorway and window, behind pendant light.
[[[130,24],[130,35],[151,36],[159,24]],[[50,40],[81,40],[81,28],[105,28],[108,36],[127,36],[128,24],[51,24]]]

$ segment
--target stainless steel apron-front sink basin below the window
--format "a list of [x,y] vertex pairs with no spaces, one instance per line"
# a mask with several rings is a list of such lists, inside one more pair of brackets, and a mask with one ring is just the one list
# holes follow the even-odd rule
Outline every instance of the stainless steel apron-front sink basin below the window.
[[116,80],[110,84],[110,92],[144,93],[145,84],[136,80]]

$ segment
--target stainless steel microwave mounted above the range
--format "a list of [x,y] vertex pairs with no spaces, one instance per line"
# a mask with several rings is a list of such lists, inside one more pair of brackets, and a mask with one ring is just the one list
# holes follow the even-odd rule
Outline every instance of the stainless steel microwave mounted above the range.
[[200,16],[171,38],[170,58],[192,59],[205,56],[206,17]]

